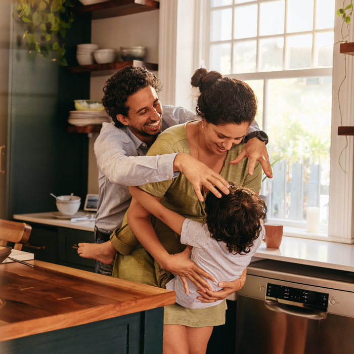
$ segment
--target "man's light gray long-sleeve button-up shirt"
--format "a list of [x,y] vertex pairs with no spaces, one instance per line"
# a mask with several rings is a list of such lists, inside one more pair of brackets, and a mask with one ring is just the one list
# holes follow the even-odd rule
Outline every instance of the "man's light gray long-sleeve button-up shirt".
[[[182,107],[162,106],[162,130],[195,119],[196,114]],[[247,134],[259,130],[254,121]],[[111,233],[122,224],[130,205],[128,186],[142,186],[178,176],[173,172],[176,154],[145,156],[148,147],[125,126],[103,123],[95,142],[95,155],[99,168],[99,203],[96,226]]]

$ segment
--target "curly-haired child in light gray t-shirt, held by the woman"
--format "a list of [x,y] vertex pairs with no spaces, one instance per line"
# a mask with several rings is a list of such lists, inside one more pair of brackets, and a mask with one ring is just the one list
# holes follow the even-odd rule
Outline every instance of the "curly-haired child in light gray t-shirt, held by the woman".
[[[218,281],[234,281],[237,278],[240,280],[241,289],[243,279],[240,276],[264,236],[260,221],[265,218],[267,212],[264,202],[247,188],[232,182],[229,185],[230,194],[223,194],[221,198],[207,193],[205,224],[165,208],[153,196],[138,187],[129,187],[133,198],[181,235],[181,243],[193,246],[190,258],[214,277],[215,283],[207,280],[212,291],[222,289],[217,286]],[[128,223],[134,224],[134,220],[129,218],[129,212]],[[166,289],[175,291],[176,302],[188,308],[214,306],[222,301],[203,303],[197,300],[198,288],[189,279],[181,279],[179,276],[169,281]]]

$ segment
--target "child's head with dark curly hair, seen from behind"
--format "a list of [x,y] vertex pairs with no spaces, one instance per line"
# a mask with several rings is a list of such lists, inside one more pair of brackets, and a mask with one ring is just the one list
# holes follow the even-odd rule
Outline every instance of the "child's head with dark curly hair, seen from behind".
[[221,198],[208,192],[205,222],[212,238],[224,241],[230,252],[248,253],[261,231],[260,219],[267,213],[265,203],[248,188],[229,182],[230,194]]

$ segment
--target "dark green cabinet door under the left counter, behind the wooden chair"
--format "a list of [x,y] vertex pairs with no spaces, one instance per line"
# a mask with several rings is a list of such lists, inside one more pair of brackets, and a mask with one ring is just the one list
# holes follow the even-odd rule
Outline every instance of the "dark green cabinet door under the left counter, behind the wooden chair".
[[34,259],[58,264],[58,228],[42,224],[32,226],[31,235],[22,251],[34,253]]

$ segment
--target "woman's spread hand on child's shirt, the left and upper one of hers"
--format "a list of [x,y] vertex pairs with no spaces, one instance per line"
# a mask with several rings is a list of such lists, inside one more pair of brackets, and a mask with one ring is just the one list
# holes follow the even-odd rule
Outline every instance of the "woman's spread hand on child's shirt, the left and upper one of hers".
[[160,265],[164,270],[167,270],[181,277],[187,295],[189,291],[186,278],[188,278],[196,287],[198,287],[201,293],[208,291],[207,289],[209,289],[211,292],[210,284],[201,276],[210,279],[213,282],[215,279],[210,274],[204,272],[201,268],[198,267],[196,263],[189,259],[191,249],[192,246],[187,246],[186,249],[181,253],[170,254],[165,263]]

